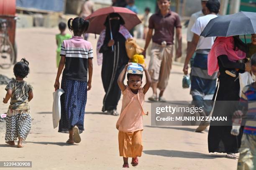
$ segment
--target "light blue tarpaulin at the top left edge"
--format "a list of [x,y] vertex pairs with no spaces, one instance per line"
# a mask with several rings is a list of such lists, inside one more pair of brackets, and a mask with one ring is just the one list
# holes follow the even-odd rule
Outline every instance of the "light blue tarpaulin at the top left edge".
[[20,8],[32,8],[37,10],[48,10],[63,12],[65,0],[16,0],[16,6]]

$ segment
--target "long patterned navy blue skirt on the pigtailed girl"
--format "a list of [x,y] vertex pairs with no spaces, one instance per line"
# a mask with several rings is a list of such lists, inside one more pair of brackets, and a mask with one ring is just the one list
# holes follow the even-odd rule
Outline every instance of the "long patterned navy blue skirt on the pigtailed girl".
[[69,133],[69,130],[77,126],[79,133],[82,133],[87,101],[87,82],[62,78],[61,89],[65,93],[61,95],[61,119],[58,132]]

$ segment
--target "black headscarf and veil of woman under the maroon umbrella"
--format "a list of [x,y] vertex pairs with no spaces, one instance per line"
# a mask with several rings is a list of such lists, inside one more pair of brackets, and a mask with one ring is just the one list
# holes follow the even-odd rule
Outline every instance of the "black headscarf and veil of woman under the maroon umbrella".
[[115,40],[115,38],[117,38],[117,35],[119,33],[119,29],[120,29],[120,25],[125,24],[123,18],[118,13],[110,13],[110,15],[106,18],[106,21],[104,23],[104,25],[106,27],[106,36],[105,36],[104,43],[108,43],[108,41],[111,39],[111,37],[110,37],[109,17],[110,18],[114,18],[114,17],[119,17],[120,18],[119,20],[110,20],[111,30],[112,30],[112,35],[113,35],[114,40]]

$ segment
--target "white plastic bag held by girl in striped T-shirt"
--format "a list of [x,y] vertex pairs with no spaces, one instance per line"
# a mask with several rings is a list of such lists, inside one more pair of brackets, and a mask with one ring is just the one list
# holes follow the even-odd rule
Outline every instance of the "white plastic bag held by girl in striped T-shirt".
[[61,103],[60,96],[65,93],[63,89],[58,89],[53,92],[54,102],[52,105],[52,122],[54,128],[58,127],[60,116],[61,116]]

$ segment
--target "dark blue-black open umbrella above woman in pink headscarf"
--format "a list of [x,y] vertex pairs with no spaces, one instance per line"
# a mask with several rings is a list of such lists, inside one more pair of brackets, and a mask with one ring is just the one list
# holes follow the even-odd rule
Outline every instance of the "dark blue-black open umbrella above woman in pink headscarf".
[[256,13],[239,12],[210,20],[200,36],[229,37],[256,33]]

